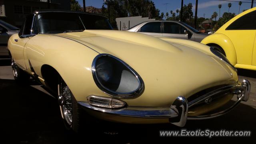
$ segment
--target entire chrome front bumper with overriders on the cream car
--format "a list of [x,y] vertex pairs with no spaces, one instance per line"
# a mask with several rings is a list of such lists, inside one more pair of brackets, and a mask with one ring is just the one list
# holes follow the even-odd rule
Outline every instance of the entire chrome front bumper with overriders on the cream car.
[[[214,95],[218,95],[223,92],[230,92],[230,93],[239,95],[234,105],[232,105],[226,110],[216,112],[214,114],[202,115],[202,116],[188,116],[188,109],[190,107],[202,101],[205,101],[206,99]],[[185,97],[179,96],[176,98],[176,100],[170,107],[129,107],[128,106],[122,109],[109,109],[109,108],[94,107],[85,102],[78,102],[78,104],[81,105],[82,108],[86,108],[86,109],[89,108],[96,111],[105,112],[108,114],[120,115],[120,116],[131,116],[131,117],[138,117],[138,118],[169,118],[170,123],[176,126],[182,127],[182,126],[185,126],[187,120],[201,120],[201,119],[208,119],[208,118],[221,116],[222,114],[225,114],[230,110],[232,110],[241,101],[248,101],[249,95],[250,95],[250,82],[244,79],[241,85],[228,85],[226,87],[216,89],[214,91],[211,91],[210,93],[206,93],[205,95],[198,97],[197,99],[194,99],[193,101],[190,101],[189,103]]]

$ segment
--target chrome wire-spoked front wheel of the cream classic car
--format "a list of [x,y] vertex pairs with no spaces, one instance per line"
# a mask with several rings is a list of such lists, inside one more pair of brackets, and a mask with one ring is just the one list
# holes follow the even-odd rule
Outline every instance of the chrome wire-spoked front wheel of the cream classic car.
[[69,125],[71,125],[73,117],[71,91],[65,83],[60,85],[60,95],[58,96],[58,101],[62,110],[63,118]]

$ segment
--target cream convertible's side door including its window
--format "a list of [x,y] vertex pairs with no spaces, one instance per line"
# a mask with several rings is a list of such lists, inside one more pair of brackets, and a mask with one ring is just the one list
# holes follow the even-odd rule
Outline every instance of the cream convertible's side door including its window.
[[24,46],[29,41],[29,35],[31,34],[33,16],[27,16],[24,26],[18,35],[14,35],[12,43],[13,45],[13,54],[15,62],[21,66],[23,69],[26,69],[24,63]]

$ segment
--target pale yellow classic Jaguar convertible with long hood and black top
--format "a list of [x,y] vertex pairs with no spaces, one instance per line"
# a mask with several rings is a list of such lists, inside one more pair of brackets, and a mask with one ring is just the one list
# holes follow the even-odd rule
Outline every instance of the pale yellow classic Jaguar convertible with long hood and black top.
[[[111,29],[92,14],[28,16],[8,41],[14,78],[23,83],[31,76],[50,89],[75,131],[90,119],[82,112],[112,122],[184,126],[248,100],[249,81],[238,84],[236,69],[214,48]],[[234,105],[222,107],[234,95]],[[216,108],[224,110],[208,113]]]

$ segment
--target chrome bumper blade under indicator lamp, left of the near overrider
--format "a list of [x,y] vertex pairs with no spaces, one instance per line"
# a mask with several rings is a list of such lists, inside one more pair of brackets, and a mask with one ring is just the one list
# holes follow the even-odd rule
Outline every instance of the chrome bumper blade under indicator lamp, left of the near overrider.
[[170,107],[126,107],[122,109],[110,109],[93,107],[86,102],[78,102],[82,108],[89,108],[107,114],[114,114],[119,116],[130,116],[137,118],[174,118],[177,117],[177,112]]

